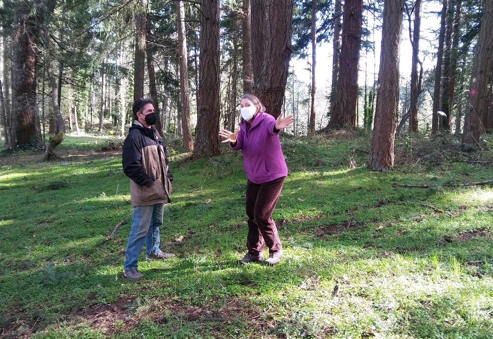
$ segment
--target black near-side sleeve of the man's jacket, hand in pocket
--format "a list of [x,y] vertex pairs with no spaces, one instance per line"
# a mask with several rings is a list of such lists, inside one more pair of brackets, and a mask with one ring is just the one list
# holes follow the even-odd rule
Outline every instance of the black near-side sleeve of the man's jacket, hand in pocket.
[[133,138],[127,137],[123,143],[122,165],[124,173],[141,186],[151,186],[154,180],[142,169],[142,153]]

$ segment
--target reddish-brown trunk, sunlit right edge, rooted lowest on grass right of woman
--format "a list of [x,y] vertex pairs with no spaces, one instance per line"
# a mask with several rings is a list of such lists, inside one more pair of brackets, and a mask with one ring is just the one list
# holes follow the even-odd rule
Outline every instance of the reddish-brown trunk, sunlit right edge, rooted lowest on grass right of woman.
[[403,0],[384,0],[378,96],[368,167],[387,170],[394,165],[394,139],[399,103],[399,47]]

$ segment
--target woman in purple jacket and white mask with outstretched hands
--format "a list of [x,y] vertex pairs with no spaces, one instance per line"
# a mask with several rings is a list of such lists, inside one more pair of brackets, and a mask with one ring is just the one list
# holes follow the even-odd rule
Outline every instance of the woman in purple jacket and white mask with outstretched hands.
[[281,150],[279,132],[291,128],[292,115],[275,119],[265,112],[264,105],[252,94],[241,98],[242,119],[235,132],[221,129],[219,136],[229,142],[231,149],[239,150],[245,158],[247,174],[246,213],[248,215],[248,253],[238,261],[263,260],[264,244],[269,247],[269,264],[279,262],[282,244],[272,212],[276,206],[282,185],[288,174]]

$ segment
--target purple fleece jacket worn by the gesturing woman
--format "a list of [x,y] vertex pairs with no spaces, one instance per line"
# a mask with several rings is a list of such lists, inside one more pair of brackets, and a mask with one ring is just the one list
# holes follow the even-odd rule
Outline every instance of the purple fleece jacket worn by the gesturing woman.
[[264,183],[288,175],[288,167],[279,141],[274,132],[276,119],[265,112],[258,112],[247,132],[246,121],[240,122],[240,131],[233,150],[241,149],[245,158],[245,172],[250,181]]

